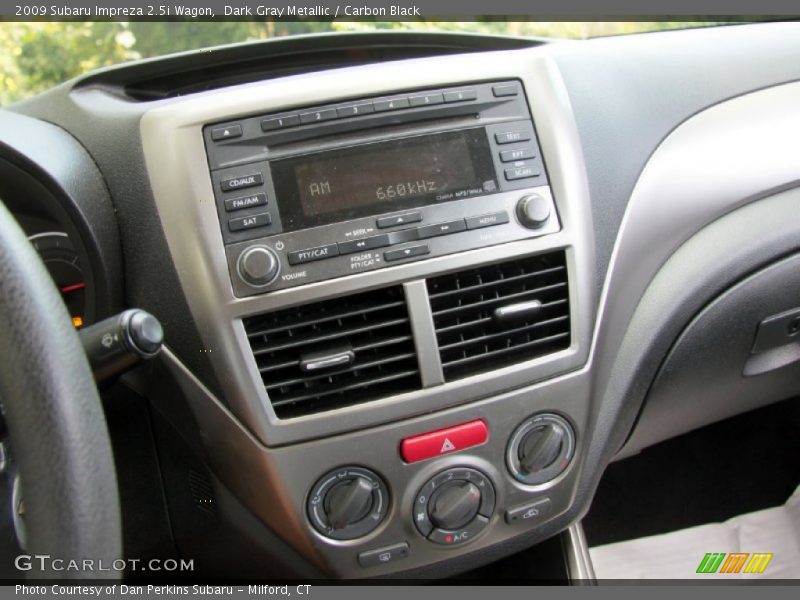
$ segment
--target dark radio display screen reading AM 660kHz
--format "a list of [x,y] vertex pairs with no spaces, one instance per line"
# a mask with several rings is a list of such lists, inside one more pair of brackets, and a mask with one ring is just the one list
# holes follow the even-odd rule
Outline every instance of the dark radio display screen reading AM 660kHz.
[[293,156],[270,165],[286,231],[497,191],[482,127]]

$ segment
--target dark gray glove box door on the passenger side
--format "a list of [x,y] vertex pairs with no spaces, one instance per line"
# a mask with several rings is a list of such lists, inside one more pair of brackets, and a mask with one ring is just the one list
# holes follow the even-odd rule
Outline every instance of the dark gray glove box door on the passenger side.
[[[783,339],[761,351],[753,340],[765,319],[796,311],[798,305],[798,255],[750,275],[709,303],[670,350],[624,452],[797,396],[796,333],[783,327]],[[756,361],[764,364],[763,370],[748,376],[747,366]]]

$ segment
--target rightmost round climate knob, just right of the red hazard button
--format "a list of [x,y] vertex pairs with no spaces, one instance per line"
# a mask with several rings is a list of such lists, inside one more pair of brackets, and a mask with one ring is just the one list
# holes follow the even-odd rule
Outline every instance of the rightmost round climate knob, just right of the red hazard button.
[[558,477],[569,465],[574,451],[575,434],[567,420],[554,414],[540,414],[517,427],[506,458],[517,480],[539,485]]

